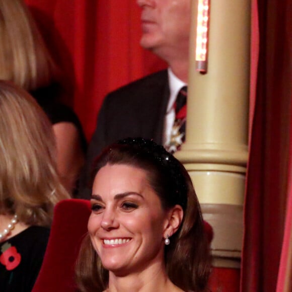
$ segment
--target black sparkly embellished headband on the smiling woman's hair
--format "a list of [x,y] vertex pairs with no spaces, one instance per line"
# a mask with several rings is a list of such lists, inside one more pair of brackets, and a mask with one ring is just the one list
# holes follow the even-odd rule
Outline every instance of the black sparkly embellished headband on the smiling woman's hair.
[[175,196],[172,201],[176,201],[185,209],[187,204],[187,185],[181,163],[162,145],[153,140],[141,137],[125,138],[117,141],[120,145],[130,145],[136,151],[136,155],[147,156],[154,161],[167,175],[170,176],[171,190],[170,196]]

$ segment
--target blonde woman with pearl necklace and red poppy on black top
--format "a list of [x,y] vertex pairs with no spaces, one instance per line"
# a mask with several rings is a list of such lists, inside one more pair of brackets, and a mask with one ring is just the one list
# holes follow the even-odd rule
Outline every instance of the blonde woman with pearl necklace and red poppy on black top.
[[31,291],[54,205],[69,198],[51,124],[24,90],[0,81],[0,289]]

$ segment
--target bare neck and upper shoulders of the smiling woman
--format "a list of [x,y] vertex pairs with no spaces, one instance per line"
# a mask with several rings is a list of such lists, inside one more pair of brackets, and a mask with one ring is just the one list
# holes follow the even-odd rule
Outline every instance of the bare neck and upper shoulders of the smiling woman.
[[178,292],[182,291],[168,278],[166,270],[160,265],[153,265],[143,271],[131,273],[127,276],[116,276],[109,273],[109,287],[107,292]]

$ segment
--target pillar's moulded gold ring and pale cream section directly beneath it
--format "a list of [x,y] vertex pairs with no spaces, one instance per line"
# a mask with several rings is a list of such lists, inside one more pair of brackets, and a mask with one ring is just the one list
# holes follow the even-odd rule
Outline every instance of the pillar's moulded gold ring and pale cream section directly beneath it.
[[192,179],[200,204],[243,205],[247,156],[247,150],[185,151],[182,148],[175,153]]

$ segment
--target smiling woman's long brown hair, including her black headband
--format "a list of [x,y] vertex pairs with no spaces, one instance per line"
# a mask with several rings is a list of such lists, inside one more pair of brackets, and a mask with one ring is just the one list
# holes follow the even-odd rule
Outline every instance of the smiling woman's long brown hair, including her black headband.
[[[165,247],[167,274],[183,290],[204,291],[210,273],[209,247],[200,205],[183,165],[161,145],[142,138],[127,138],[106,148],[95,161],[92,180],[107,164],[124,164],[146,171],[163,208],[182,206],[181,226]],[[103,291],[108,286],[108,271],[89,236],[83,241],[76,274],[80,291]]]

